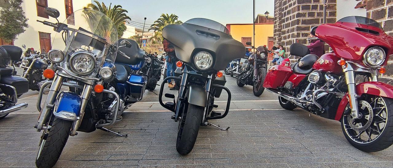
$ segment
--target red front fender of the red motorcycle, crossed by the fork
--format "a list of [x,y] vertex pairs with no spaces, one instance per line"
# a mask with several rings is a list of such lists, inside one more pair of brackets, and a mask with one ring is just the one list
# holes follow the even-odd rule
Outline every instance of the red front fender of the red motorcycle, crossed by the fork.
[[[363,82],[356,85],[356,93],[359,96],[366,93],[370,95],[393,98],[393,86],[382,82]],[[335,120],[340,121],[348,101],[347,93],[338,105],[336,117],[334,117]]]

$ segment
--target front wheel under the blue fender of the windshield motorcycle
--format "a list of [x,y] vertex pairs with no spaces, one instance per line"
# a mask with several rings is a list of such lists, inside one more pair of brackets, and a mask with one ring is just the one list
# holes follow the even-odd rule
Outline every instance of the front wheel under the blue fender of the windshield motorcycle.
[[49,122],[48,128],[42,134],[42,142],[35,161],[38,168],[51,168],[56,164],[70,136],[72,123],[73,121],[59,118]]

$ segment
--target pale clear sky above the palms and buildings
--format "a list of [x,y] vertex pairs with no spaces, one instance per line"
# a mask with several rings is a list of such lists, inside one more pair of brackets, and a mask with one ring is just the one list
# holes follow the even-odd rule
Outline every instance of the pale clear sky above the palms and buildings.
[[[162,13],[179,16],[185,22],[191,18],[208,18],[226,24],[252,23],[253,0],[98,0],[105,5],[121,5],[128,11],[132,23],[141,29],[143,18],[149,27]],[[274,16],[274,0],[255,0],[255,17],[268,11]]]

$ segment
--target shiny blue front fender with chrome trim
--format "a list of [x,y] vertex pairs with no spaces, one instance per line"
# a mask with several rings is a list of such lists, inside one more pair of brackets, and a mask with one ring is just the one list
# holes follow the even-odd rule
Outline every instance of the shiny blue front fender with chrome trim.
[[79,120],[79,112],[81,111],[81,97],[76,93],[63,91],[57,97],[53,114],[55,117],[77,121]]

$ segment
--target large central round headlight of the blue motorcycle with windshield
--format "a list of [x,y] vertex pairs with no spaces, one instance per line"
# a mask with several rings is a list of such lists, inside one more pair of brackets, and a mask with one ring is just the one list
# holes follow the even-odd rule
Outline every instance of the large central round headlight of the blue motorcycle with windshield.
[[81,53],[71,58],[71,69],[75,73],[86,75],[91,73],[95,68],[95,59],[92,55]]

